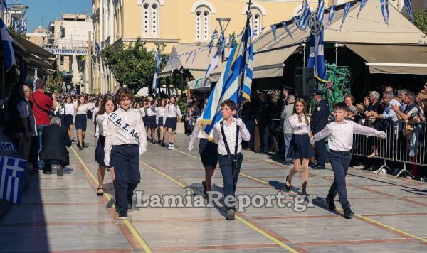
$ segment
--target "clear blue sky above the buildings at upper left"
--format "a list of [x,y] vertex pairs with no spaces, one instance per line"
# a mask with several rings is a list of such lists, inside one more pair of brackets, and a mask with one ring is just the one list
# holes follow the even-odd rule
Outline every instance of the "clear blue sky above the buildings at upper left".
[[60,19],[63,11],[65,14],[83,14],[85,11],[90,15],[92,10],[91,0],[6,0],[10,7],[12,4],[29,6],[26,11],[27,31],[33,32],[34,28],[42,25],[47,28],[50,21]]

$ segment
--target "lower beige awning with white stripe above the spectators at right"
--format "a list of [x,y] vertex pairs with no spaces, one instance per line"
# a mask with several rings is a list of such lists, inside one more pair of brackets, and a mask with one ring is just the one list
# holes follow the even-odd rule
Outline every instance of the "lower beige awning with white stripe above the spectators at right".
[[427,75],[427,45],[345,45],[367,61],[371,74]]

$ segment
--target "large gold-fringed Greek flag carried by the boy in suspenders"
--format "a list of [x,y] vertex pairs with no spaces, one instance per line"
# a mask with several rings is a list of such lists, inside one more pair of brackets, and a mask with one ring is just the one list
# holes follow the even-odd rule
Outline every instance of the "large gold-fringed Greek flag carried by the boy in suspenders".
[[[246,60],[243,62],[243,55],[246,54]],[[243,83],[242,75],[244,70]],[[253,70],[253,45],[251,40],[251,27],[248,22],[239,36],[233,50],[228,57],[226,68],[221,73],[218,82],[209,95],[208,103],[204,109],[199,124],[205,136],[212,141],[212,129],[214,124],[222,119],[221,103],[226,99],[231,99],[241,106],[251,99]]]

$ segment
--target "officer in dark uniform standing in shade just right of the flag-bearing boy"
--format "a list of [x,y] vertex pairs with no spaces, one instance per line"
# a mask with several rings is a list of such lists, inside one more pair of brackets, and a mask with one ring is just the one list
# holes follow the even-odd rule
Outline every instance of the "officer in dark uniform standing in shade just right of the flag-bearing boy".
[[270,137],[270,109],[271,103],[268,100],[267,92],[260,91],[260,104],[258,106],[258,114],[255,119],[255,124],[258,124],[260,134],[260,154],[268,154],[268,138]]

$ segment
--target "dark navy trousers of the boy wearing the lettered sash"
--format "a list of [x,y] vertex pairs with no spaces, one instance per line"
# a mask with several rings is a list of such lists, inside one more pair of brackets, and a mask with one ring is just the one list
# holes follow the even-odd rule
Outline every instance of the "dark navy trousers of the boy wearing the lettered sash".
[[141,181],[139,173],[139,146],[112,146],[110,165],[114,166],[114,188],[119,211],[127,211],[127,202],[132,199],[134,190]]

